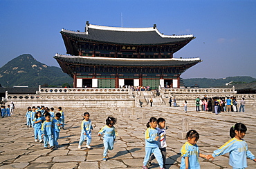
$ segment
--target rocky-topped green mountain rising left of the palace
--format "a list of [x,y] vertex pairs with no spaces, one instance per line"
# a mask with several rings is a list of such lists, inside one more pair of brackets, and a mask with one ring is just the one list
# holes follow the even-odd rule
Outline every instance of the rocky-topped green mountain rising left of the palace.
[[39,85],[62,86],[73,83],[68,74],[55,66],[46,66],[37,61],[31,54],[22,54],[0,68],[1,86],[28,86],[37,88]]

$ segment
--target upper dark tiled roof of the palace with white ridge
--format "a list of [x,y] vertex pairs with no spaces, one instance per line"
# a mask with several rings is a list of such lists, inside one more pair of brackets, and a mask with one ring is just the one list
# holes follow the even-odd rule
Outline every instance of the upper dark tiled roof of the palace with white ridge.
[[194,39],[188,35],[164,35],[156,27],[152,28],[118,28],[107,26],[86,25],[86,32],[64,30],[62,35],[78,41],[93,41],[95,43],[113,43],[121,45],[160,45],[189,42]]

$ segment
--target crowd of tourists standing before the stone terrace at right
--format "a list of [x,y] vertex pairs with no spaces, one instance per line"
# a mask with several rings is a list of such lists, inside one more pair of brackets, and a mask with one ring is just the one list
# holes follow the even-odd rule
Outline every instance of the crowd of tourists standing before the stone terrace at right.
[[[203,99],[196,98],[196,111],[209,111],[218,115],[220,112],[244,112],[246,101],[244,97],[239,101],[235,97],[203,97]],[[238,108],[239,106],[239,108]]]

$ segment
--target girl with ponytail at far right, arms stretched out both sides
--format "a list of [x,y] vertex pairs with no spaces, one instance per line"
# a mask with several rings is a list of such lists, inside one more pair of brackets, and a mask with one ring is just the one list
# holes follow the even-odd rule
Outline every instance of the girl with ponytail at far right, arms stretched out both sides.
[[229,165],[232,168],[246,168],[246,157],[256,162],[255,155],[249,150],[244,136],[246,135],[246,126],[243,123],[236,123],[230,128],[230,139],[223,144],[218,150],[215,150],[212,155],[208,155],[208,159],[214,159],[219,155],[224,155],[229,152]]

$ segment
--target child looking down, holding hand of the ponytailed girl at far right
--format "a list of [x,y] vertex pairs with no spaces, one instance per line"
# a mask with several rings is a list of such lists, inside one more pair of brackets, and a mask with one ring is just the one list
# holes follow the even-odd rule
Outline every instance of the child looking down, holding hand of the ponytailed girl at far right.
[[199,147],[196,145],[199,133],[196,130],[189,130],[186,138],[188,141],[181,147],[181,169],[200,168],[199,157],[206,158],[206,155],[201,154]]

